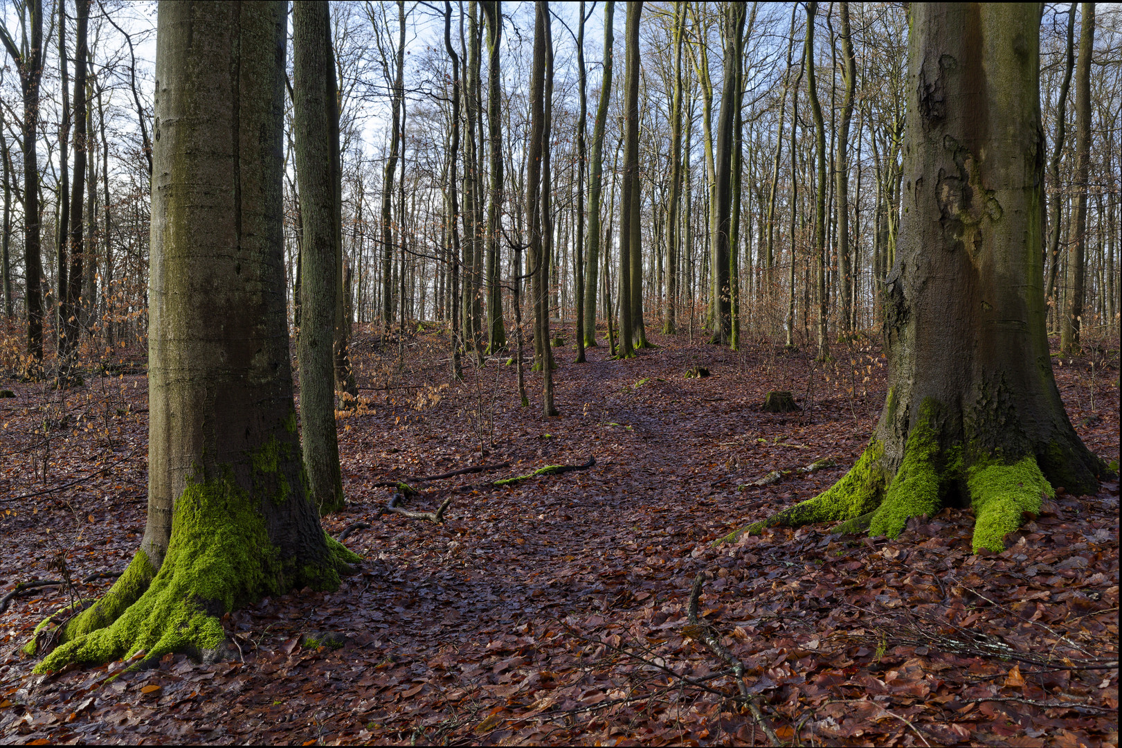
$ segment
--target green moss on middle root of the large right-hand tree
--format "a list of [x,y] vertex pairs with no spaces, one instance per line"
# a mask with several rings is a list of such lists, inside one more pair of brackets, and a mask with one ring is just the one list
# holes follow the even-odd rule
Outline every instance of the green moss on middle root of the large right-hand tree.
[[895,538],[909,518],[939,511],[945,471],[939,464],[939,435],[934,425],[937,410],[930,398],[920,403],[916,422],[908,432],[903,462],[870,522],[871,536]]

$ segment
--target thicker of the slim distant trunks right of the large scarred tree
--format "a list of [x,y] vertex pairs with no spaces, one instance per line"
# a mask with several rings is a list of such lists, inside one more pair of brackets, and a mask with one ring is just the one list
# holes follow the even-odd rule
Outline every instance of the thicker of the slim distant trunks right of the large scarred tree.
[[1087,176],[1091,163],[1091,53],[1095,43],[1095,3],[1080,3],[1079,62],[1075,71],[1075,211],[1067,250],[1067,313],[1059,329],[1060,355],[1079,354],[1086,279]]

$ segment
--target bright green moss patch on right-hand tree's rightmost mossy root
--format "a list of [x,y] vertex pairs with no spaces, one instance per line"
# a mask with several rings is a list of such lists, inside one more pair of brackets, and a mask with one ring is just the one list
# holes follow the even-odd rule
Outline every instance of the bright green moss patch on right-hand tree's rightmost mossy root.
[[1005,536],[1021,526],[1024,513],[1039,513],[1041,500],[1055,495],[1031,455],[1012,465],[974,465],[967,486],[974,508],[974,553],[1004,550]]

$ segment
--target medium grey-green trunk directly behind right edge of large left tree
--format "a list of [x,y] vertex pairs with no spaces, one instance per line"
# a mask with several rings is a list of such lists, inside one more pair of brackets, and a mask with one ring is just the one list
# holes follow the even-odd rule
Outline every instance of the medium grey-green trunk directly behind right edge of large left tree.
[[335,170],[331,129],[334,77],[325,0],[295,0],[292,9],[293,137],[301,195],[300,417],[309,498],[321,513],[343,508],[335,431],[337,307]]

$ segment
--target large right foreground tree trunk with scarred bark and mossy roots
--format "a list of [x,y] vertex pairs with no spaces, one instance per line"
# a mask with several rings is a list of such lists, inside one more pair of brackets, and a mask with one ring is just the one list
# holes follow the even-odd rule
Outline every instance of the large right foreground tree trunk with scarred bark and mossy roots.
[[846,521],[896,537],[945,503],[1002,550],[1052,487],[1107,469],[1052,377],[1040,282],[1043,135],[1036,6],[912,6],[903,222],[889,274],[889,395],[826,493],[749,528]]

